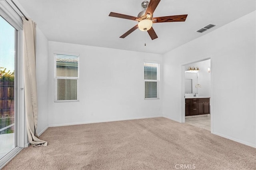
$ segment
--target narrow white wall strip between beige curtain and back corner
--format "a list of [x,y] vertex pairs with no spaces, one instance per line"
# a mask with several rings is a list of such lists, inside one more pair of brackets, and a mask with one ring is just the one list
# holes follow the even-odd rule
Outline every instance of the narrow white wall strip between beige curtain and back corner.
[[48,40],[36,28],[36,81],[38,94],[38,127],[40,135],[48,128]]

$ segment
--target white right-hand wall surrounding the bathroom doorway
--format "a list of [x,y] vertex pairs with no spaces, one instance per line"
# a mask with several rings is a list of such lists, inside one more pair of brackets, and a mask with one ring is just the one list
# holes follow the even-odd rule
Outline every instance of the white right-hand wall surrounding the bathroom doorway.
[[182,65],[210,58],[212,132],[256,147],[255,16],[254,11],[164,54],[164,116],[182,122]]

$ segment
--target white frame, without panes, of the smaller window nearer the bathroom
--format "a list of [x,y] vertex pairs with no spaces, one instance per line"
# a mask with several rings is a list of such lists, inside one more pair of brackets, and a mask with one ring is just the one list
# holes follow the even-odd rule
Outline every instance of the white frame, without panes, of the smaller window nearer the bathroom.
[[[157,78],[156,80],[152,80],[152,79],[145,79],[145,63],[152,63],[152,64],[156,64],[157,65]],[[145,60],[143,63],[143,69],[144,69],[144,100],[154,100],[154,99],[160,99],[160,61],[147,61]],[[156,93],[157,93],[157,97],[146,97],[146,93],[145,93],[145,88],[146,82],[157,82],[157,89],[156,89]]]

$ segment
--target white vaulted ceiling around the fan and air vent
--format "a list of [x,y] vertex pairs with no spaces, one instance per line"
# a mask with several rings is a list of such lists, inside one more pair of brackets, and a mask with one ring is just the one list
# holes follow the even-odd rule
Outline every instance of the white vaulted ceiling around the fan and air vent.
[[[188,14],[185,22],[155,23],[158,38],[139,29],[122,39],[136,21],[108,16],[137,16],[143,0],[19,0],[48,40],[163,54],[254,10],[255,0],[162,0],[154,17]],[[216,25],[196,32],[208,24]],[[231,28],[230,28],[231,29]],[[146,46],[144,43],[146,42]]]

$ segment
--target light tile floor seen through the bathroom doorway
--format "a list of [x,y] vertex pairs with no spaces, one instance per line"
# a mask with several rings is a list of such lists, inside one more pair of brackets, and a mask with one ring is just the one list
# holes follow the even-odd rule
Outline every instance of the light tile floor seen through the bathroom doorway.
[[203,117],[190,117],[185,119],[185,123],[193,125],[195,127],[204,128],[206,130],[211,130],[211,116],[208,114]]

